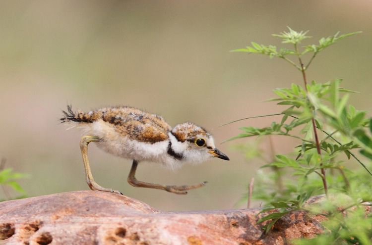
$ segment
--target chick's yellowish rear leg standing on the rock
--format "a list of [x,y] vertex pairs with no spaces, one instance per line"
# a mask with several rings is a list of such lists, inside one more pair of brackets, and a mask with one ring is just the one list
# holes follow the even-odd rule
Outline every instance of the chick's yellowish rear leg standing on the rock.
[[92,189],[93,191],[112,192],[112,193],[123,195],[119,191],[114,191],[113,189],[103,188],[102,186],[98,185],[93,179],[92,172],[90,171],[89,160],[88,160],[88,144],[91,142],[99,142],[99,141],[101,140],[98,137],[89,136],[89,135],[84,135],[80,141],[80,149],[81,149],[81,154],[83,155],[86,183],[88,184],[90,189]]

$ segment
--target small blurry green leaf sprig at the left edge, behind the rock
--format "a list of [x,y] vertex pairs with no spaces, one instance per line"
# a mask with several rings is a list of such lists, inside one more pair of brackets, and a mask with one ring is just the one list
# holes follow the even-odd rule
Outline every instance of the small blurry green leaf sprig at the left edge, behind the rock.
[[[6,186],[10,186],[13,190],[25,194],[23,188],[18,184],[16,180],[27,178],[27,174],[13,172],[11,168],[4,168],[5,159],[2,158],[0,164],[0,186],[6,196],[6,199],[11,199],[10,194],[6,189]],[[18,197],[19,198],[19,197]],[[1,201],[1,200],[0,200]],[[3,201],[3,200],[2,200]]]

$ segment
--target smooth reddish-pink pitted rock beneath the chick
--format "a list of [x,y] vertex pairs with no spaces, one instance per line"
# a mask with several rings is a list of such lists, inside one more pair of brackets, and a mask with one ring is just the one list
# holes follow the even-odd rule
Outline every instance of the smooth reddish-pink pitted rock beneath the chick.
[[322,231],[323,217],[294,212],[265,235],[259,211],[163,212],[98,191],[36,196],[0,202],[0,245],[281,245]]

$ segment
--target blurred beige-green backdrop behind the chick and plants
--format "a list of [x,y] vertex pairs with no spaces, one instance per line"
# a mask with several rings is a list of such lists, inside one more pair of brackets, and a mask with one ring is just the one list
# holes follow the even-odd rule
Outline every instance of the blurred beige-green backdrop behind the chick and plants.
[[[262,101],[274,97],[274,88],[302,83],[301,74],[282,60],[229,51],[251,41],[281,46],[270,34],[286,26],[310,30],[313,39],[304,45],[337,31],[363,31],[321,52],[308,79],[343,78],[342,86],[362,92],[350,102],[370,110],[371,13],[369,0],[1,1],[0,157],[6,167],[31,175],[20,181],[28,196],[88,190],[81,132],[66,131],[61,111],[70,103],[85,111],[130,105],[159,114],[172,126],[191,121],[207,128],[231,160],[189,164],[177,172],[140,164],[139,180],[209,182],[177,196],[129,186],[131,162],[92,144],[89,159],[98,184],[162,210],[245,207],[236,203],[262,162],[246,161],[232,143],[220,143],[236,136],[240,126],[264,126],[275,118],[218,126],[282,110]],[[272,140],[282,153],[297,143]]]

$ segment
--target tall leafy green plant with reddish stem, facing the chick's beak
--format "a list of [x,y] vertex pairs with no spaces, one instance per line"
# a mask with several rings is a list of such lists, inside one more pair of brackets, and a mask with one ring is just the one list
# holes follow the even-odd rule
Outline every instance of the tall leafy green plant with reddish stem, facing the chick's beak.
[[[257,223],[269,221],[264,227],[266,233],[282,216],[295,210],[306,210],[327,217],[323,224],[326,231],[314,239],[316,243],[371,244],[372,217],[370,213],[366,214],[365,206],[370,206],[369,201],[372,201],[372,189],[369,185],[372,173],[352,151],[358,149],[361,154],[372,159],[372,119],[366,118],[366,111],[348,105],[349,95],[357,92],[342,88],[341,79],[325,83],[314,80],[308,82],[306,74],[320,51],[359,32],[340,36],[336,33],[320,39],[317,45],[300,47],[303,40],[310,38],[306,36],[307,33],[289,28],[288,32],[273,35],[281,38],[282,43],[290,44],[292,49],[277,49],[275,46],[252,42],[251,47],[233,50],[281,58],[301,72],[302,83],[274,90],[277,98],[270,101],[288,106],[286,109],[276,114],[256,116],[282,116],[279,122],[274,121],[270,126],[262,128],[242,127],[240,129],[243,132],[229,140],[266,135],[282,135],[299,140],[294,157],[278,154],[274,161],[262,166],[274,169],[271,175],[273,180],[258,181],[259,188],[266,188],[266,191],[259,192],[259,195],[253,194],[253,198],[267,202],[267,207],[261,213],[279,209],[279,212],[258,220]],[[303,61],[305,54],[311,54],[307,62]],[[244,119],[249,118],[252,117]],[[365,171],[353,172],[345,168],[340,160],[341,153],[349,160],[357,160]],[[284,175],[289,175],[291,181],[283,181]],[[297,185],[293,178],[297,178]],[[278,179],[281,181],[280,185],[274,183]],[[315,207],[306,204],[310,196],[322,193],[326,196],[322,205]],[[333,198],[335,195],[338,198]],[[345,197],[344,202],[339,202],[339,196]],[[341,210],[337,209],[340,206]],[[315,241],[297,242],[313,244]]]

